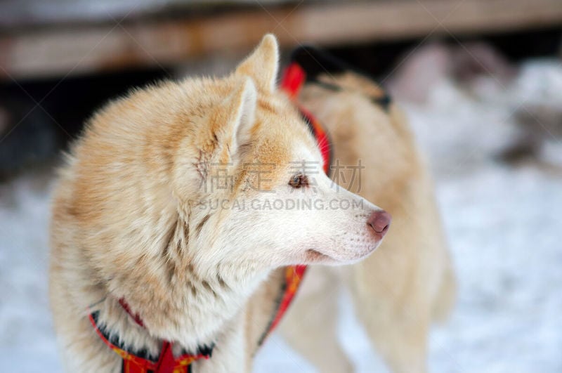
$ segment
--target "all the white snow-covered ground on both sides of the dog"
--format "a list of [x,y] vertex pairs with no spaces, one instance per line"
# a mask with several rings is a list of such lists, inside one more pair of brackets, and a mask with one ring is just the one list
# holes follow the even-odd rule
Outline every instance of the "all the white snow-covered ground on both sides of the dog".
[[[562,80],[560,64],[528,66],[519,86],[534,87],[547,92],[552,102],[562,102],[562,84],[552,86]],[[537,71],[547,70],[549,79],[537,79]],[[455,313],[431,334],[430,368],[562,372],[562,173],[496,160],[516,138],[514,110],[531,105],[528,100],[536,95],[525,98],[514,91],[516,85],[503,89],[487,79],[486,92],[491,86],[493,94],[469,95],[444,81],[433,89],[428,103],[405,104],[436,178],[459,280]],[[544,158],[558,162],[561,140],[547,138]],[[60,371],[47,297],[51,184],[43,176],[26,175],[0,185],[4,372]],[[358,371],[384,371],[345,294],[341,300],[341,340]],[[273,336],[259,353],[255,371],[313,370]]]

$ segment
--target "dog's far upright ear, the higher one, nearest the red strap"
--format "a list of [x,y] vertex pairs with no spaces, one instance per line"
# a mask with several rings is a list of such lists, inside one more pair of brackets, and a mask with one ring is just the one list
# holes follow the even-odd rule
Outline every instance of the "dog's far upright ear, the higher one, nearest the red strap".
[[237,74],[251,77],[258,89],[265,92],[273,92],[275,89],[278,70],[279,46],[273,34],[266,34],[254,52],[236,68]]

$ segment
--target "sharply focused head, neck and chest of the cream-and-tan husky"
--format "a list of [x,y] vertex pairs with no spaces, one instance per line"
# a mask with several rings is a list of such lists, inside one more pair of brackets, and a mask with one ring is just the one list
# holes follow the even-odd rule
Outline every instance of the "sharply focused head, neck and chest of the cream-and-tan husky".
[[[256,316],[249,331],[249,315],[271,300],[268,275],[355,263],[379,246],[390,216],[323,174],[315,139],[276,90],[277,49],[266,35],[228,77],[133,91],[72,147],[50,268],[67,372],[121,372],[129,353],[162,358],[162,341],[172,360],[214,346],[194,372],[248,371],[261,325]],[[288,208],[296,199],[307,207]]]

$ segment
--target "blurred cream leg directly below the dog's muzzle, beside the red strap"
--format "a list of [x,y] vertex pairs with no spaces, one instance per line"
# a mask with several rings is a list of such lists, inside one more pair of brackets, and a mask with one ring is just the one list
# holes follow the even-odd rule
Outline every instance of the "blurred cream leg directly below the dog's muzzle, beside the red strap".
[[280,332],[320,372],[353,372],[336,336],[340,288],[332,271],[308,268]]

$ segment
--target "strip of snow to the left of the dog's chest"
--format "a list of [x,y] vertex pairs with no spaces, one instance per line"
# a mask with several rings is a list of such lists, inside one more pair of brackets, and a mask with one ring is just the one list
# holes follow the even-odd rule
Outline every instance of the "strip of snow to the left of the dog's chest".
[[48,190],[32,175],[0,186],[0,361],[6,372],[60,371],[47,294]]

